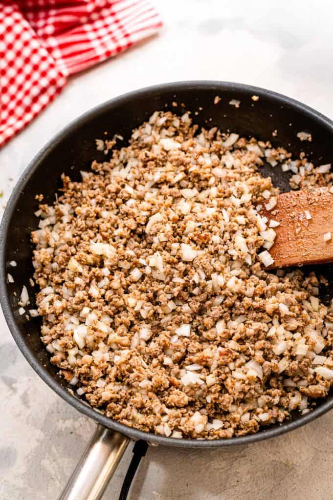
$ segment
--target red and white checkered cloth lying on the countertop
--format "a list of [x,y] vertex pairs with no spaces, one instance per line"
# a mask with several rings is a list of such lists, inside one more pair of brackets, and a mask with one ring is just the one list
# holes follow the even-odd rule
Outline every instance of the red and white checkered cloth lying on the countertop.
[[161,25],[146,0],[0,0],[0,146],[54,99],[69,75]]

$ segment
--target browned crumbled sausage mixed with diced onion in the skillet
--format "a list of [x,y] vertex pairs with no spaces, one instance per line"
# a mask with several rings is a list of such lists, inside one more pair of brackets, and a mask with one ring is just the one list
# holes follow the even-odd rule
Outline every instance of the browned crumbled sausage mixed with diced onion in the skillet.
[[79,395],[126,425],[209,439],[326,396],[333,314],[318,280],[265,270],[278,189],[260,166],[282,163],[293,188],[331,184],[303,156],[155,112],[82,181],[63,175],[32,233],[31,315]]

